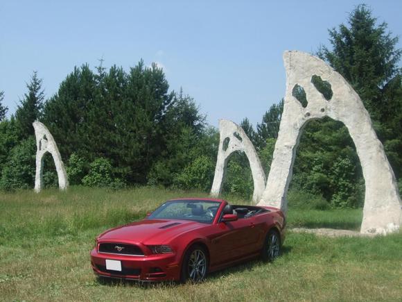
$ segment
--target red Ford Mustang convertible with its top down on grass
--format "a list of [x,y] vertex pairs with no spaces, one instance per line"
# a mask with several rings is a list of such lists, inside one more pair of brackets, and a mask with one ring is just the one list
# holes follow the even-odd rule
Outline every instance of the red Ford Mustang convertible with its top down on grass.
[[284,229],[285,217],[277,208],[175,199],[146,219],[100,234],[91,265],[101,277],[198,282],[243,260],[274,260]]

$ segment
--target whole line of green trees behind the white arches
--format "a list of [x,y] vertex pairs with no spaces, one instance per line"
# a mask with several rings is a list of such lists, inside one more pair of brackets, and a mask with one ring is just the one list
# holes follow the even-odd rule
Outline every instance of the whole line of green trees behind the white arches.
[[[377,24],[363,5],[351,12],[346,25],[329,31],[330,47],[321,47],[316,55],[358,92],[401,179],[402,72],[397,42],[387,24]],[[140,60],[125,71],[116,66],[105,69],[102,64],[92,70],[85,64],[74,68],[47,100],[42,80],[34,72],[27,90],[10,118],[0,92],[1,190],[33,187],[35,119],[55,138],[71,185],[210,189],[218,129],[207,125],[191,96],[182,90],[169,91],[157,65],[146,67]],[[241,121],[267,175],[282,110],[283,100],[265,112],[255,130],[247,118]],[[51,156],[44,165],[45,185],[57,185]],[[358,156],[347,128],[338,121],[324,118],[306,125],[293,172],[290,191],[295,200],[324,208],[362,205],[365,187]],[[249,199],[252,190],[247,158],[236,153],[229,160],[224,192]]]

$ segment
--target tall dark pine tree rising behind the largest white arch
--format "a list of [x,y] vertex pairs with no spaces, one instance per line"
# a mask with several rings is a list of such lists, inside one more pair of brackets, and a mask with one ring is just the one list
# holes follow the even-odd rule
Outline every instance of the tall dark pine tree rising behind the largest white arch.
[[[339,30],[329,31],[332,50],[322,47],[319,55],[353,86],[370,115],[384,121],[389,113],[385,94],[401,86],[398,63],[402,49],[396,49],[399,38],[387,32],[387,24],[376,23],[367,6],[358,6],[349,16],[348,26],[340,24]],[[394,81],[396,85],[390,85]]]

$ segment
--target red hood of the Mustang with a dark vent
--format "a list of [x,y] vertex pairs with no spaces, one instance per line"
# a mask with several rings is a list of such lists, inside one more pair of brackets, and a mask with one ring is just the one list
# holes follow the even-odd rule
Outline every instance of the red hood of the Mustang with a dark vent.
[[204,226],[207,225],[188,220],[143,219],[107,230],[99,235],[98,240],[164,244],[177,235]]

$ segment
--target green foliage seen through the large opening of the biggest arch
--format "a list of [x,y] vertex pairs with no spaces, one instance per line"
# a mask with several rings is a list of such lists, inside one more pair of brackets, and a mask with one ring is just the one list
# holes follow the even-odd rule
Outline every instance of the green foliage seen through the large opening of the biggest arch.
[[297,149],[291,187],[321,195],[338,208],[362,205],[364,186],[355,146],[342,123],[309,121]]

